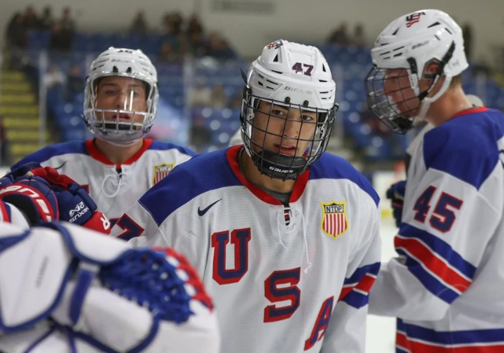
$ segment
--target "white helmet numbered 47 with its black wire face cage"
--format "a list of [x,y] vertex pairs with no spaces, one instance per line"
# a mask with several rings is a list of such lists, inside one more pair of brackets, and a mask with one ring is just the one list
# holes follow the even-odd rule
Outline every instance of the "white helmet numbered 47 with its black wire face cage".
[[[283,180],[296,179],[326,150],[335,107],[338,106],[335,104],[336,84],[324,55],[314,46],[280,39],[265,46],[261,55],[250,65],[248,74],[243,76],[246,84],[240,119],[247,153],[261,173]],[[302,157],[269,151],[252,140],[254,129],[259,129],[253,121],[260,100],[287,109],[317,113],[318,119],[314,122],[317,124],[316,132],[309,141],[306,140],[309,144]],[[271,111],[263,113],[272,116]],[[296,148],[301,140],[297,138]],[[260,151],[255,151],[254,146],[259,147]]]

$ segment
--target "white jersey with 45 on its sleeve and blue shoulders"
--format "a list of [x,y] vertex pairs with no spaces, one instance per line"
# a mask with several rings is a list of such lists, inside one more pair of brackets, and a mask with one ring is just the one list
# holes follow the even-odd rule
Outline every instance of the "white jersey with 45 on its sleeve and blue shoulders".
[[369,312],[396,316],[397,352],[504,352],[504,115],[464,110],[410,163],[398,258]]

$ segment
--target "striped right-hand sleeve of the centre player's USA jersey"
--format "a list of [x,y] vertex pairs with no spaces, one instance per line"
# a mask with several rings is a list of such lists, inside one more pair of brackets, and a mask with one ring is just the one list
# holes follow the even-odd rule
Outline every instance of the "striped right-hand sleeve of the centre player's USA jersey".
[[[321,353],[364,352],[368,293],[380,270],[380,216],[376,205],[362,222]],[[336,298],[335,298],[336,299]]]

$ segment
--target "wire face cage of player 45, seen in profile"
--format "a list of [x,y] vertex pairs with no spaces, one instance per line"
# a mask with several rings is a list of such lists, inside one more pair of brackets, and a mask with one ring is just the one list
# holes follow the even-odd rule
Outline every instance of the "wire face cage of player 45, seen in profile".
[[[393,77],[387,77],[390,69],[373,67],[365,78],[367,104],[369,109],[393,132],[405,134],[413,126],[415,115],[418,114],[420,99],[418,96],[404,96],[404,89],[411,88],[409,82],[410,70],[401,70]],[[407,79],[402,79],[406,77]],[[386,91],[385,81],[390,81]],[[401,82],[406,84],[401,85]],[[395,101],[393,96],[401,96]]]

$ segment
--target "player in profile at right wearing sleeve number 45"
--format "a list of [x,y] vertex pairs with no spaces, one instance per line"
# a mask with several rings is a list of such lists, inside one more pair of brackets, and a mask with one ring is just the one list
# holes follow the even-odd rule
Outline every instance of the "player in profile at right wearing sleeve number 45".
[[412,153],[394,244],[369,312],[398,317],[398,352],[504,351],[504,116],[462,90],[461,28],[446,13],[401,16],[371,50],[370,108],[393,131],[434,128]]

